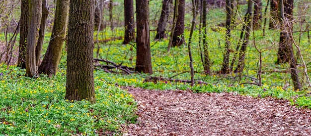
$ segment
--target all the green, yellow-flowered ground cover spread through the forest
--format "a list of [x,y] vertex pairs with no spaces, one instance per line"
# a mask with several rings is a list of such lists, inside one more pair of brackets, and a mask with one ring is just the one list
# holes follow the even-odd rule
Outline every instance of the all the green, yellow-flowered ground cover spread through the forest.
[[[115,22],[122,22],[123,17],[119,14],[122,11],[123,1],[117,0],[114,11],[118,12],[114,16]],[[157,3],[158,2],[158,3]],[[151,1],[151,21],[158,18],[159,4],[161,1]],[[187,0],[189,4],[189,0]],[[189,9],[189,7],[187,8]],[[240,7],[239,16],[243,16],[245,5]],[[105,12],[108,14],[108,12]],[[145,89],[156,90],[191,90],[195,93],[202,92],[236,92],[242,95],[253,97],[274,97],[287,99],[293,105],[299,107],[311,108],[311,97],[305,95],[310,89],[304,88],[302,91],[294,91],[292,86],[283,89],[286,84],[291,83],[290,74],[286,72],[273,72],[274,70],[287,70],[288,65],[275,65],[279,32],[266,30],[266,36],[262,36],[262,31],[254,31],[251,34],[251,41],[247,47],[245,57],[245,68],[241,79],[234,73],[228,75],[219,75],[217,72],[221,69],[223,61],[223,52],[225,45],[225,31],[221,29],[214,32],[210,27],[215,27],[219,22],[224,22],[224,9],[210,8],[208,14],[208,36],[207,42],[210,50],[210,59],[213,62],[211,66],[212,75],[206,75],[200,58],[199,49],[199,31],[196,27],[193,42],[192,54],[194,59],[195,79],[207,82],[208,85],[197,83],[191,87],[188,83],[156,81],[145,82],[150,76],[155,77],[173,77],[173,79],[189,80],[189,58],[187,46],[171,48],[166,52],[168,39],[154,41],[155,32],[151,32],[151,52],[154,74],[147,75],[135,73],[131,75],[106,73],[102,70],[95,70],[95,94],[97,102],[89,103],[87,100],[69,101],[64,99],[66,87],[66,54],[63,51],[63,57],[59,66],[59,72],[53,78],[41,76],[34,80],[24,77],[24,70],[16,66],[6,66],[0,64],[0,135],[101,135],[103,133],[112,133],[121,135],[121,124],[133,123],[137,115],[136,102],[133,96],[118,86],[133,86]],[[108,18],[105,18],[108,20]],[[186,28],[190,27],[191,16],[185,17]],[[238,21],[238,20],[237,20]],[[120,26],[120,22],[116,24]],[[156,23],[151,22],[151,30],[154,30]],[[169,27],[170,24],[168,24]],[[122,25],[121,25],[122,26]],[[232,46],[234,50],[238,43],[239,30],[241,24],[232,31]],[[297,26],[295,27],[297,29]],[[189,39],[189,31],[185,31],[186,41]],[[97,33],[97,32],[95,32]],[[43,45],[43,54],[48,45],[51,33],[46,33],[45,44]],[[94,34],[95,35],[95,34]],[[123,36],[123,27],[117,27],[111,31],[108,27],[98,34],[99,40],[110,39],[112,37]],[[3,39],[0,34],[0,39]],[[295,33],[296,40],[299,34]],[[122,45],[122,40],[110,41],[99,44],[100,58],[111,60],[115,63],[135,67],[136,45]],[[187,42],[186,42],[187,43]],[[263,50],[263,86],[253,86],[249,84],[241,85],[245,82],[254,82],[258,71],[258,52],[254,45]],[[305,61],[311,62],[310,43],[306,34],[302,35],[300,46],[303,50]],[[95,45],[97,47],[97,45]],[[97,48],[94,49],[94,56]],[[232,60],[232,57],[230,58]],[[301,64],[301,61],[298,62]],[[235,64],[236,65],[236,64]],[[308,65],[309,68],[309,65]],[[306,85],[305,76],[300,70],[301,80]],[[115,70],[118,72],[118,70]],[[247,77],[246,77],[247,76]],[[309,76],[311,76],[309,74]],[[251,77],[251,78],[250,78]]]

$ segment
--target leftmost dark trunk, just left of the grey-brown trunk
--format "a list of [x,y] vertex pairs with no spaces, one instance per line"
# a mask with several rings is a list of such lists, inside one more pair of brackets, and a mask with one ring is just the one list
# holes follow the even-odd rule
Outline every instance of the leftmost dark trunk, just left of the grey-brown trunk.
[[20,10],[19,51],[17,66],[21,69],[25,69],[28,35],[28,0],[21,0]]

